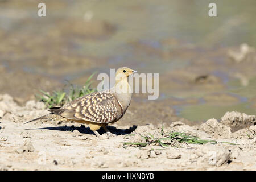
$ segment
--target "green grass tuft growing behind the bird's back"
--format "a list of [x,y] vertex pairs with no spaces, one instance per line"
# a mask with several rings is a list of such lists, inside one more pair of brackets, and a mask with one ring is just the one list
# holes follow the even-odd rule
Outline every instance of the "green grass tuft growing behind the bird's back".
[[93,73],[88,80],[85,82],[85,85],[82,88],[79,88],[76,85],[73,85],[68,82],[65,87],[68,87],[68,92],[64,91],[64,88],[61,91],[53,91],[52,93],[44,92],[40,90],[42,94],[36,94],[36,98],[39,101],[44,102],[46,107],[50,108],[53,106],[63,106],[68,102],[75,100],[76,98],[85,96],[89,93],[96,92],[97,89],[92,88],[92,77],[95,73]]

